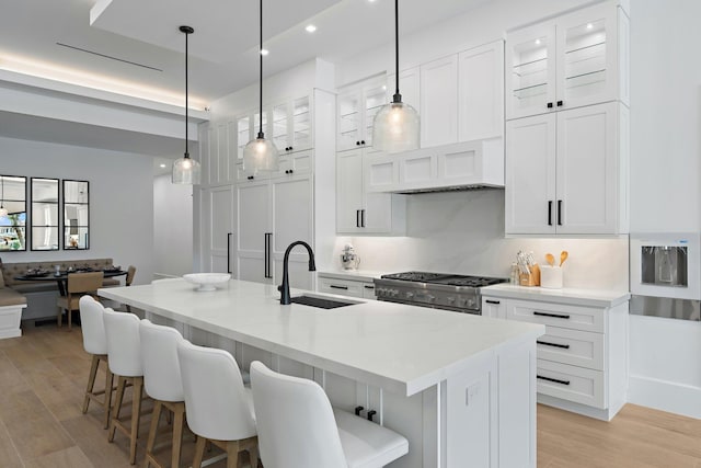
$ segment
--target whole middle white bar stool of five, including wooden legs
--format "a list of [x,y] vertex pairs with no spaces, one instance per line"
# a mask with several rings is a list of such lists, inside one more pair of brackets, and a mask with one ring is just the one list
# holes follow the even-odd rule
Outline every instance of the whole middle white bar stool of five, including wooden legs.
[[171,467],[177,468],[180,466],[185,423],[185,393],[183,392],[180,364],[177,362],[177,343],[183,341],[183,336],[172,327],[157,326],[149,320],[141,320],[139,333],[143,364],[143,387],[146,388],[146,393],[154,401],[151,430],[146,444],[146,468],[151,465],[164,468],[153,456],[156,433],[163,408],[173,414]]

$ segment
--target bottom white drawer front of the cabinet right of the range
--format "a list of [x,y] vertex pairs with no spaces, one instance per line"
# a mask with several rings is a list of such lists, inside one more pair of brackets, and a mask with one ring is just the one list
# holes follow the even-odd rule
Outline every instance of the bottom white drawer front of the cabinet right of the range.
[[606,408],[604,373],[551,361],[537,361],[537,390],[575,403]]

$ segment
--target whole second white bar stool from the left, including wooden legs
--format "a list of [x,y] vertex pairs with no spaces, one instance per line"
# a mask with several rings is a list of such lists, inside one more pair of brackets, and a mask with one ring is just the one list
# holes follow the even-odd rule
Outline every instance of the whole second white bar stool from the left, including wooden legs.
[[[139,339],[139,318],[131,313],[104,311],[105,335],[110,369],[118,377],[114,410],[110,420],[107,441],[114,442],[115,430],[129,437],[129,463],[136,463],[136,440],[139,433],[141,393],[143,389],[143,366],[141,365],[141,342]],[[131,424],[129,427],[119,421],[119,410],[127,384],[133,385]]]

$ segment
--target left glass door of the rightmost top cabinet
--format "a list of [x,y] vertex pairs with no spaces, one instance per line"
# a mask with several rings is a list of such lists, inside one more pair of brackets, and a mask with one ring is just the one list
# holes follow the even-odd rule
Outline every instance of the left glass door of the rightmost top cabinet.
[[508,118],[552,110],[555,101],[555,27],[541,25],[509,35],[506,54]]

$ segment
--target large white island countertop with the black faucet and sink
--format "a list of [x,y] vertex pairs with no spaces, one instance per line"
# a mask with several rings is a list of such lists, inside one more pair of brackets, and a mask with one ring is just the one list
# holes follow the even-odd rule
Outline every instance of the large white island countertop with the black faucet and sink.
[[97,293],[405,396],[466,370],[485,353],[545,331],[535,323],[318,293],[307,294],[357,304],[331,310],[280,306],[276,286],[237,279],[215,292],[196,292],[175,278]]

